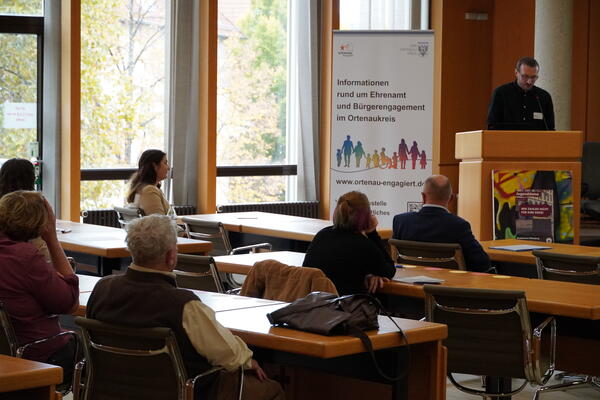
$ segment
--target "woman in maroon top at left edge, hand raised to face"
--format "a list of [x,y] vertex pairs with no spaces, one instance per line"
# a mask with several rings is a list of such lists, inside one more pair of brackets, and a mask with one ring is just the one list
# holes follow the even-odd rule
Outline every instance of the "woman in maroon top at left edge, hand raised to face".
[[[28,241],[41,236],[52,263]],[[6,307],[19,345],[56,335],[56,314],[79,306],[79,280],[56,236],[56,218],[40,193],[16,191],[0,199],[0,301]],[[63,367],[65,381],[73,371],[76,341],[60,336],[29,347],[25,358]]]

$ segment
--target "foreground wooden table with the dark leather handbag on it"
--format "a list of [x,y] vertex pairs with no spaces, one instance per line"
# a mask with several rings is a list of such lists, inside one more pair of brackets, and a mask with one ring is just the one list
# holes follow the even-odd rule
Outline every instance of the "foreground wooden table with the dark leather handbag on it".
[[[93,290],[99,279],[86,277],[80,280],[80,284],[86,290]],[[271,365],[291,366],[289,371],[286,368],[284,378],[288,400],[363,399],[371,396],[445,399],[446,352],[442,346],[442,340],[447,336],[445,325],[394,319],[410,344],[410,365],[407,366],[406,343],[397,328],[380,316],[379,329],[367,333],[378,361],[390,374],[409,368],[405,379],[390,384],[378,377],[358,338],[323,336],[271,326],[266,314],[287,303],[198,290],[194,293],[215,310],[216,318],[223,326],[253,348],[257,357]],[[76,315],[85,315],[89,295],[88,291],[81,292]],[[310,385],[306,385],[307,379]]]

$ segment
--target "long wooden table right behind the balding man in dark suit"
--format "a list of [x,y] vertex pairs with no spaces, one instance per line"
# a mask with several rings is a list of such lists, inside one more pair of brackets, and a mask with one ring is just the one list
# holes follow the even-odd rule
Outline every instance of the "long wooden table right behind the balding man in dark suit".
[[[557,369],[600,375],[600,363],[597,361],[600,359],[600,337],[586,337],[588,332],[598,331],[600,286],[430,267],[399,268],[394,278],[416,275],[443,279],[443,285],[451,287],[523,290],[530,312],[559,319]],[[391,295],[425,297],[423,286],[394,281],[385,284],[381,291]],[[567,334],[561,333],[561,323],[562,331],[567,330]],[[573,333],[572,329],[567,329],[569,326],[566,324],[572,323],[578,327],[582,325],[582,332]]]

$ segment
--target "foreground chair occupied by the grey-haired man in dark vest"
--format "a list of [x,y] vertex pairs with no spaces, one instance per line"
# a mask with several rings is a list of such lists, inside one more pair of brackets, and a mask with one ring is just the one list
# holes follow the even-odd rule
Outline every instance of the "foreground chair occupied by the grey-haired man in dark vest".
[[[192,400],[196,385],[222,370],[188,377],[169,328],[130,328],[83,317],[75,323],[81,327],[85,359],[75,368],[73,400]],[[242,368],[239,382],[241,393]]]

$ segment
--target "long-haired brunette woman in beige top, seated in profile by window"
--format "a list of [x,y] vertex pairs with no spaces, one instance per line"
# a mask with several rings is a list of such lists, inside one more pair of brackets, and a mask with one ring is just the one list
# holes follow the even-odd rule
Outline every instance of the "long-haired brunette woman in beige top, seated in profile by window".
[[170,206],[160,190],[160,182],[167,177],[169,169],[164,152],[154,149],[144,151],[138,161],[138,170],[131,177],[127,202],[146,215],[166,215]]

